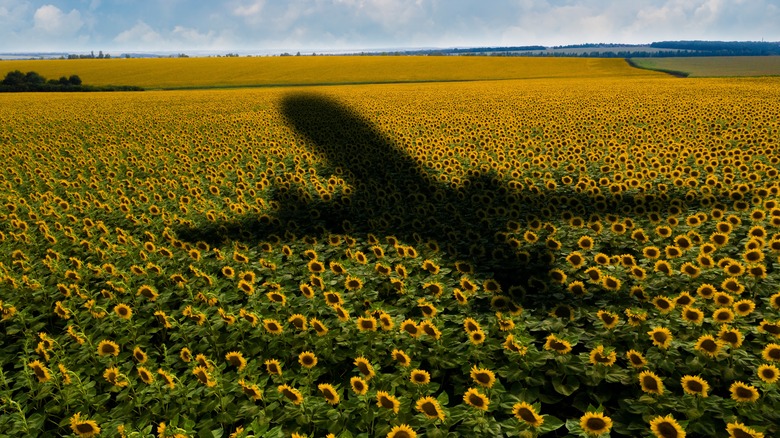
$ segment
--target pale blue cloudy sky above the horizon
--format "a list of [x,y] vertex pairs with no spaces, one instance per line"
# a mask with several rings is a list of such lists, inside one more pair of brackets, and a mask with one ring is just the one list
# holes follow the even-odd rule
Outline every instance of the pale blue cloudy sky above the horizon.
[[780,0],[0,0],[0,52],[780,41]]

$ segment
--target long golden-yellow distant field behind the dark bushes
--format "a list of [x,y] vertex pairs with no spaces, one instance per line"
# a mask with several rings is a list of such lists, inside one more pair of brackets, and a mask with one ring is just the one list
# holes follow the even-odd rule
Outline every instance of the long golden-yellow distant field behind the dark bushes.
[[79,75],[90,85],[209,88],[647,76],[622,59],[487,57],[274,57],[81,59],[0,62],[0,74]]

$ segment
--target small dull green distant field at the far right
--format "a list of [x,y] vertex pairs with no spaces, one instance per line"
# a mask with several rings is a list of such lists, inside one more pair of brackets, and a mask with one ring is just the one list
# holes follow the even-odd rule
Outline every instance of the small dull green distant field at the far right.
[[682,72],[689,77],[780,75],[780,56],[643,58],[633,62],[641,68]]

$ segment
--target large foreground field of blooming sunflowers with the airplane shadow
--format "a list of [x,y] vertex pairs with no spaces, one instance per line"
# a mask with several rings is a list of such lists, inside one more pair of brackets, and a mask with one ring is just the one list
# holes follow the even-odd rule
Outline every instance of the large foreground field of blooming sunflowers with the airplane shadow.
[[0,96],[0,434],[780,434],[780,81]]

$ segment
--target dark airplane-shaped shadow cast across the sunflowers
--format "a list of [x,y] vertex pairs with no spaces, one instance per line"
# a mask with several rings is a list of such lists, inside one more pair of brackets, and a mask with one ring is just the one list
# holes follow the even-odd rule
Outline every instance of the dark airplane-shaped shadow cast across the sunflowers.
[[[548,247],[546,221],[577,216],[587,222],[593,213],[602,220],[608,215],[631,217],[653,212],[666,217],[670,209],[687,212],[704,205],[700,197],[676,187],[665,194],[641,196],[634,196],[636,191],[632,195],[593,195],[560,184],[552,190],[529,190],[513,187],[479,168],[469,170],[468,178],[460,184],[440,182],[392,138],[333,99],[290,94],[283,100],[281,112],[310,145],[310,152],[322,159],[324,164],[316,169],[317,174],[340,174],[352,186],[351,192],[323,200],[306,194],[305,182],[277,185],[272,188],[272,199],[280,208],[271,220],[247,215],[229,222],[204,221],[203,226],[177,229],[180,238],[220,245],[227,241],[259,243],[271,234],[325,238],[331,233],[371,233],[380,238],[392,235],[400,242],[434,241],[447,259],[467,261],[480,275],[496,279],[504,292],[521,286],[526,297],[533,297],[533,303],[549,304],[560,301],[560,295],[547,293],[552,284],[548,271],[565,254],[554,248],[554,243]],[[708,204],[720,201],[710,199]],[[525,230],[529,224],[542,225],[540,239],[530,246],[523,242],[518,250],[517,240],[511,239],[518,237],[513,232]],[[625,239],[622,242],[601,250],[640,258],[640,245],[629,245]]]

